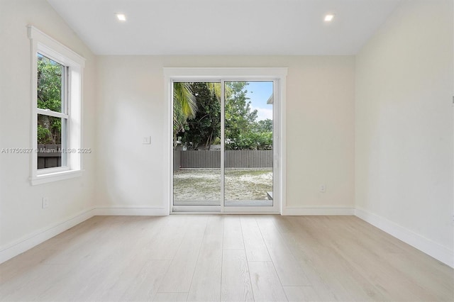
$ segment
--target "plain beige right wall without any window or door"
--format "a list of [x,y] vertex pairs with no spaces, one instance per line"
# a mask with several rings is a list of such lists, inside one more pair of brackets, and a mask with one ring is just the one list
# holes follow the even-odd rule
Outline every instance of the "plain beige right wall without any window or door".
[[452,98],[453,1],[404,1],[356,57],[355,202],[450,265]]

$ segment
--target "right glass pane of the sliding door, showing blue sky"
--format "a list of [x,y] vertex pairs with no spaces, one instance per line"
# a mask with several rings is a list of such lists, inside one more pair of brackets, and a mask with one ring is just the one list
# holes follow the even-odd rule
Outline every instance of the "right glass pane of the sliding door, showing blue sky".
[[225,206],[272,206],[273,82],[225,82]]

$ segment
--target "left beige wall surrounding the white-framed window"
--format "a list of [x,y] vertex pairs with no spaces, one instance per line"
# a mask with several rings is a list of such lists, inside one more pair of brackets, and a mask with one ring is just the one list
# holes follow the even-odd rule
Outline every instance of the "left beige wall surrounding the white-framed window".
[[[95,141],[95,61],[44,0],[0,1],[0,148],[31,147],[31,52],[27,25],[33,25],[87,59],[84,69],[84,145]],[[0,154],[0,252],[39,235],[93,207],[94,154],[84,155],[76,179],[31,186],[31,156]],[[50,206],[41,208],[41,198]],[[39,237],[39,236],[38,236]]]

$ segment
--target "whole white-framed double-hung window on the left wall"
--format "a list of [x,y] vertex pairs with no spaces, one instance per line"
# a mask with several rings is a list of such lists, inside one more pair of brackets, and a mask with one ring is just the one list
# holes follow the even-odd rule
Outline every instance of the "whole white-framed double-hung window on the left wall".
[[81,107],[84,58],[28,26],[31,39],[31,183],[82,174]]

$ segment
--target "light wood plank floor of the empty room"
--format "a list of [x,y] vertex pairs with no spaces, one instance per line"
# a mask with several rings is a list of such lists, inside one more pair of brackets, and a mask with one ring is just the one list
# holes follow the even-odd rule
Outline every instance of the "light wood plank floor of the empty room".
[[99,216],[0,265],[1,301],[453,301],[453,283],[353,216]]

